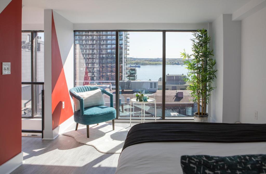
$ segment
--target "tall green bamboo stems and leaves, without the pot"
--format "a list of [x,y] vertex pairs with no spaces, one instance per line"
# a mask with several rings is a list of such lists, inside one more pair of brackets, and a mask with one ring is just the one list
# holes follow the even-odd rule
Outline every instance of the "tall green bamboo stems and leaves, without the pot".
[[[210,92],[215,88],[212,82],[216,78],[215,59],[212,59],[213,50],[210,50],[210,36],[205,29],[193,32],[192,54],[188,54],[185,50],[181,52],[184,64],[188,69],[185,81],[189,82],[188,90],[192,91],[191,96],[193,102],[197,103],[197,115],[206,114],[206,105],[209,103]],[[192,59],[192,60],[191,60]],[[200,112],[200,105],[202,106]]]

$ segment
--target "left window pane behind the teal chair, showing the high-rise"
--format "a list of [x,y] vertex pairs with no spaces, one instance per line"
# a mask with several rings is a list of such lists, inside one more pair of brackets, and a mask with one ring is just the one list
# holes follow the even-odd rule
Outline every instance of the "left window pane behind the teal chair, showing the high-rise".
[[[114,106],[115,44],[115,31],[75,32],[75,86],[98,86],[113,93]],[[106,105],[110,106],[109,96],[103,96]]]

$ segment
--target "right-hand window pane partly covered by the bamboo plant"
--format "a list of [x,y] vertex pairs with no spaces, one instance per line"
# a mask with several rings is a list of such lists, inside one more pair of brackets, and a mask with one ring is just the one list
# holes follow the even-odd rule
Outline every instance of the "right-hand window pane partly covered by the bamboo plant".
[[165,118],[193,116],[194,103],[184,81],[188,70],[180,52],[191,54],[192,32],[166,32]]

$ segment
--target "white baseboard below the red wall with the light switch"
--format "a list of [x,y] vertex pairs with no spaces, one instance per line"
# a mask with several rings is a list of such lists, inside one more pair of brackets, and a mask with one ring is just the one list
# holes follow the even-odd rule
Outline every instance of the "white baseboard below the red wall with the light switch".
[[23,161],[23,152],[14,156],[10,160],[6,161],[4,164],[0,165],[1,174],[9,174],[18,168]]

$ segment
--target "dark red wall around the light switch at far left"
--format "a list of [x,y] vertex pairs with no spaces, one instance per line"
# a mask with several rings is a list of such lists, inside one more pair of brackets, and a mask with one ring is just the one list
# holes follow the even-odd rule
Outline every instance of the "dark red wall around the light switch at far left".
[[[0,165],[21,152],[21,17],[22,0],[0,13]],[[2,75],[2,62],[11,74]]]

